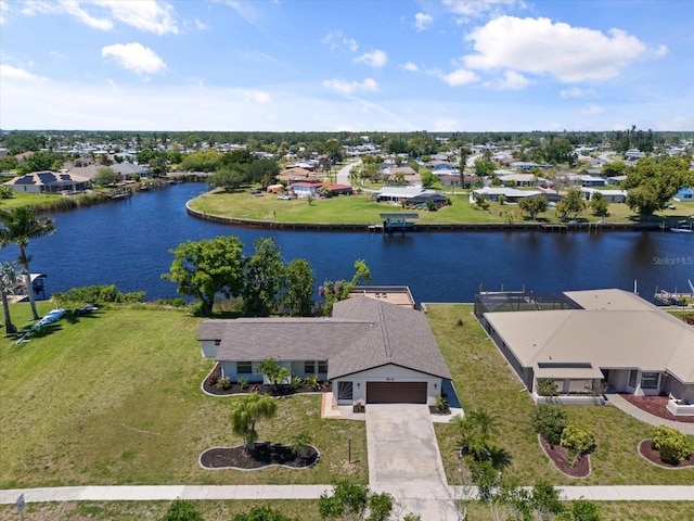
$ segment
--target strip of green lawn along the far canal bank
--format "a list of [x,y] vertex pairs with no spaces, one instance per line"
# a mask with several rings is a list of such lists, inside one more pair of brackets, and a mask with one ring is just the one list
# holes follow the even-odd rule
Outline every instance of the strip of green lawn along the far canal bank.
[[[416,223],[506,223],[504,214],[514,215],[514,223],[529,221],[517,204],[491,203],[488,211],[483,211],[470,203],[467,193],[449,194],[452,205],[438,212],[414,211],[419,214]],[[331,199],[314,199],[309,204],[306,199],[290,201],[278,200],[274,194],[264,194],[258,198],[244,192],[226,193],[222,191],[209,192],[194,199],[190,206],[193,209],[211,215],[233,217],[239,219],[264,220],[273,223],[336,223],[369,225],[382,223],[382,213],[413,212],[402,209],[399,205],[376,203],[371,200],[371,193],[361,195],[340,196]],[[634,215],[626,204],[609,205],[611,215],[607,223],[634,223]],[[660,223],[665,218],[669,223],[694,214],[694,203],[680,203],[676,209],[666,209],[652,217],[652,223]],[[547,223],[560,223],[554,209],[538,216],[539,220]],[[602,218],[593,216],[590,211],[584,211],[580,220],[599,223]]]

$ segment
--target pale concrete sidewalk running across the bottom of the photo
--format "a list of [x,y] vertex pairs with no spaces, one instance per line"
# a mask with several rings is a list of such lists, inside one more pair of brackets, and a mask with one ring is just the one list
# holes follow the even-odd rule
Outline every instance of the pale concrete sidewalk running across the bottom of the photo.
[[[378,487],[388,491],[388,486]],[[401,486],[398,495],[404,498],[428,497],[430,490]],[[449,486],[450,498],[473,498],[474,487]],[[614,485],[557,486],[566,500],[592,501],[694,501],[694,485]],[[174,499],[319,499],[332,485],[103,485],[57,486],[53,488],[12,488],[0,491],[0,505],[13,505],[21,494],[26,503],[49,501],[162,501]],[[441,493],[445,488],[441,487]]]

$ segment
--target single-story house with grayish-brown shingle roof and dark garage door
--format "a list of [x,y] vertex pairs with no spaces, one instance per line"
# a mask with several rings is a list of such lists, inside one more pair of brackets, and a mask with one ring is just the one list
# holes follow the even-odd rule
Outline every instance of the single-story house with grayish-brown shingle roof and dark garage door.
[[206,320],[197,340],[232,382],[261,382],[257,365],[277,358],[292,376],[331,381],[336,405],[434,405],[451,380],[422,312],[364,296],[336,303],[329,318]]

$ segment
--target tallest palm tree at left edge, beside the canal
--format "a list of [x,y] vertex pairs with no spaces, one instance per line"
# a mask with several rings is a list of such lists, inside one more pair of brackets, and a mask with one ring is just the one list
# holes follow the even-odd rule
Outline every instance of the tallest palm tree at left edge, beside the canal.
[[36,312],[34,288],[31,287],[31,275],[29,271],[30,257],[26,254],[26,246],[29,243],[29,239],[55,233],[55,226],[53,226],[53,221],[48,217],[35,217],[29,206],[21,206],[15,208],[14,212],[0,211],[0,224],[4,226],[3,229],[0,229],[0,247],[9,244],[20,246],[20,257],[17,262],[22,265],[22,272],[31,305],[34,320],[38,320],[39,314]]

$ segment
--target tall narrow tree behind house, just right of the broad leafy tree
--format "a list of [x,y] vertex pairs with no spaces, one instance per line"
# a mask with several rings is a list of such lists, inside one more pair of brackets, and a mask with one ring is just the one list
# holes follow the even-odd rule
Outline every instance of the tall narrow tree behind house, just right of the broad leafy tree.
[[244,265],[243,309],[246,316],[267,317],[280,304],[285,266],[274,238],[259,238]]

